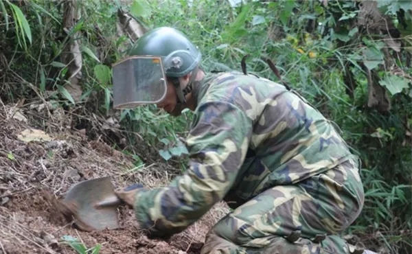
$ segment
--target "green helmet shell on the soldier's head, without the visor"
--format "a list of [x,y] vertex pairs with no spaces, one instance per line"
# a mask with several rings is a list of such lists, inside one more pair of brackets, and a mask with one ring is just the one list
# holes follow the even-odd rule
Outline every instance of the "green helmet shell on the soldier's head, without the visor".
[[182,77],[201,62],[201,52],[187,37],[171,27],[159,27],[141,36],[130,56],[160,56],[167,77]]

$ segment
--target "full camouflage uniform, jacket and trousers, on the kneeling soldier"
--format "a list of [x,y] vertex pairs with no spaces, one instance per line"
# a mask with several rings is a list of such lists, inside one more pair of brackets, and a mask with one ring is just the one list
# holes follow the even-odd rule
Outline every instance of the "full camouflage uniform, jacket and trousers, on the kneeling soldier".
[[190,169],[168,187],[137,193],[140,226],[172,235],[223,199],[233,211],[202,253],[348,253],[335,234],[360,213],[363,186],[332,124],[264,78],[220,73],[193,93]]

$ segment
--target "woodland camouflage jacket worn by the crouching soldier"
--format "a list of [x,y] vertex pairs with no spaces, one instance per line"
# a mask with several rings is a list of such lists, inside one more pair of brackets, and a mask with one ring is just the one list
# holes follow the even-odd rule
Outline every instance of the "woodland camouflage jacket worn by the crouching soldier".
[[352,156],[331,122],[281,84],[220,73],[207,76],[194,95],[190,168],[168,187],[136,195],[137,220],[155,235],[185,229],[219,200],[237,207]]

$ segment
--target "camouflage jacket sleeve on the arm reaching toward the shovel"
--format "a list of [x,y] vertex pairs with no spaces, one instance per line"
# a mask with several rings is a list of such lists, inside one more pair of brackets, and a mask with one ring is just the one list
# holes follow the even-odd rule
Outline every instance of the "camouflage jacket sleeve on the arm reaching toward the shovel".
[[252,122],[237,106],[205,102],[198,106],[186,139],[190,168],[168,187],[136,194],[139,226],[152,235],[182,231],[222,200],[244,161]]

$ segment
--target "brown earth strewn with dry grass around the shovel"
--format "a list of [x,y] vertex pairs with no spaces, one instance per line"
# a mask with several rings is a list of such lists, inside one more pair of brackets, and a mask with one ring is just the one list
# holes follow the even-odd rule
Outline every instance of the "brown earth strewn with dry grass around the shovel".
[[[199,253],[209,228],[227,212],[224,205],[169,240],[146,237],[127,207],[119,208],[120,229],[84,232],[67,222],[53,200],[74,183],[111,176],[116,187],[136,182],[156,187],[172,178],[166,174],[170,165],[147,159],[155,163],[136,168],[132,157],[65,123],[65,111],[60,117],[52,112],[54,117],[40,124],[32,121],[42,119],[38,108],[0,106],[0,253],[76,253],[65,236],[87,248],[100,244],[100,253]],[[21,141],[19,134],[28,128],[46,130],[52,141]]]

